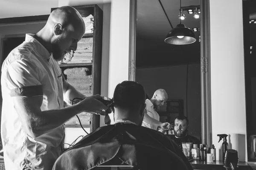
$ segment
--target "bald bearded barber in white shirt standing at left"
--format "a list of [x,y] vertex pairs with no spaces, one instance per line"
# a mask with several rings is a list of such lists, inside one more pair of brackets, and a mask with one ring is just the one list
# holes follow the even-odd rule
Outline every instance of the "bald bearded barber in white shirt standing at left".
[[51,170],[61,155],[63,124],[82,111],[105,115],[95,95],[63,108],[84,95],[68,84],[58,60],[76,51],[84,21],[70,6],[55,9],[46,25],[12,50],[2,66],[1,136],[6,170]]

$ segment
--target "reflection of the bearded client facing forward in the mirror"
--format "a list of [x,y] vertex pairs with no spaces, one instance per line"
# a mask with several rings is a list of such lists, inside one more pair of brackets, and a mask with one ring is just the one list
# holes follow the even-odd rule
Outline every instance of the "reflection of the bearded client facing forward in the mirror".
[[179,115],[174,121],[174,135],[170,138],[182,149],[182,142],[200,144],[200,140],[188,134],[189,120],[186,116]]

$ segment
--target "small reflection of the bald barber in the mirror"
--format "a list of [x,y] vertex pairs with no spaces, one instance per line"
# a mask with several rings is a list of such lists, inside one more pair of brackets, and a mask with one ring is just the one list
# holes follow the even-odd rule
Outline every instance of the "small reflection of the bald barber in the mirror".
[[167,99],[168,99],[168,95],[164,89],[158,89],[157,91],[155,91],[153,97],[150,100],[147,97],[145,101],[146,108],[145,108],[145,114],[144,114],[142,126],[148,127],[154,130],[157,130],[158,127],[161,127],[162,130],[160,131],[162,133],[166,132],[166,130],[164,129],[168,129],[167,126],[170,126],[170,123],[160,122],[159,121],[160,117],[156,110],[159,110],[159,108],[163,106],[163,104],[166,102]]

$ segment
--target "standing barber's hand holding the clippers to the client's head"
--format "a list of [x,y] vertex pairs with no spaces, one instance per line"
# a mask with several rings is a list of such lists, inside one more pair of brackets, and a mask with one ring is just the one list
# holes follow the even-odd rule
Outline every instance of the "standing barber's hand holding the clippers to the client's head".
[[78,105],[83,105],[84,110],[87,113],[95,113],[105,116],[105,110],[107,110],[108,107],[100,102],[98,99],[102,99],[102,96],[100,96],[99,94],[96,94],[94,96],[87,96],[84,100],[79,102]]

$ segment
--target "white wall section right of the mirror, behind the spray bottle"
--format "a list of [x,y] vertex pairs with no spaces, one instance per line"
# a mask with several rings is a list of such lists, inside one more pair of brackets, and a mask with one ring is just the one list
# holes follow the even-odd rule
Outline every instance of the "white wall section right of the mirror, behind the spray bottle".
[[242,22],[242,0],[210,0],[212,144],[217,160],[222,159],[217,134],[226,133],[239,161],[247,161]]

